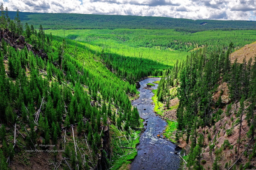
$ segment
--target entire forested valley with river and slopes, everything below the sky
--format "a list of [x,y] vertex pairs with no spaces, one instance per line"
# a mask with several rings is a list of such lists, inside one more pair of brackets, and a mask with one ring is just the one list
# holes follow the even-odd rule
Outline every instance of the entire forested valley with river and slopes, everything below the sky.
[[255,22],[9,15],[1,170],[256,167]]

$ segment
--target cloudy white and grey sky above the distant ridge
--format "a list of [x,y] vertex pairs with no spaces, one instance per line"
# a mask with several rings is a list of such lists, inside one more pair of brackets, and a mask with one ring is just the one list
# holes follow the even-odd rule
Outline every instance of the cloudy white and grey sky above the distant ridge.
[[0,0],[9,11],[256,20],[256,0]]

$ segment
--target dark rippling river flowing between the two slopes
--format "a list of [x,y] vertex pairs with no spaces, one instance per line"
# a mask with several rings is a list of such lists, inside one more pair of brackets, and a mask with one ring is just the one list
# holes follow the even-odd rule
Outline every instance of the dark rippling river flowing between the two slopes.
[[[138,108],[140,117],[146,119],[146,130],[140,137],[138,155],[131,164],[130,170],[178,170],[180,158],[177,152],[180,149],[176,145],[157,135],[164,131],[166,122],[154,114],[151,90],[144,89],[146,84],[158,81],[160,78],[147,78],[140,82],[140,97],[132,102]],[[153,83],[154,84],[154,83]],[[157,89],[158,84],[152,87]],[[146,109],[146,110],[144,110]],[[147,122],[146,122],[147,121]]]

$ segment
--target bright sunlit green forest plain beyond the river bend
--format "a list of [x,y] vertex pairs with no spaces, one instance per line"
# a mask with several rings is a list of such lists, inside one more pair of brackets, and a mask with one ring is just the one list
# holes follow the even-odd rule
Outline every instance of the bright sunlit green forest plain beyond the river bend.
[[[148,75],[161,76],[176,60],[184,60],[191,52],[236,48],[252,43],[254,30],[203,31],[196,33],[175,30],[45,30],[47,34],[82,42],[94,53],[100,53],[106,66],[116,70],[124,80],[134,83]],[[135,78],[135,79],[134,79]]]

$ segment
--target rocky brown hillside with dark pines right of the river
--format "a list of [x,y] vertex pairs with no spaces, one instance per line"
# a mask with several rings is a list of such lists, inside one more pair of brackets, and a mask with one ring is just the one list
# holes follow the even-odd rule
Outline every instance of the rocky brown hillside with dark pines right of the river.
[[[186,141],[188,169],[251,169],[255,167],[256,60],[230,62],[227,50],[192,53],[165,72],[158,99],[177,87],[178,131]],[[182,162],[184,164],[184,162]]]

